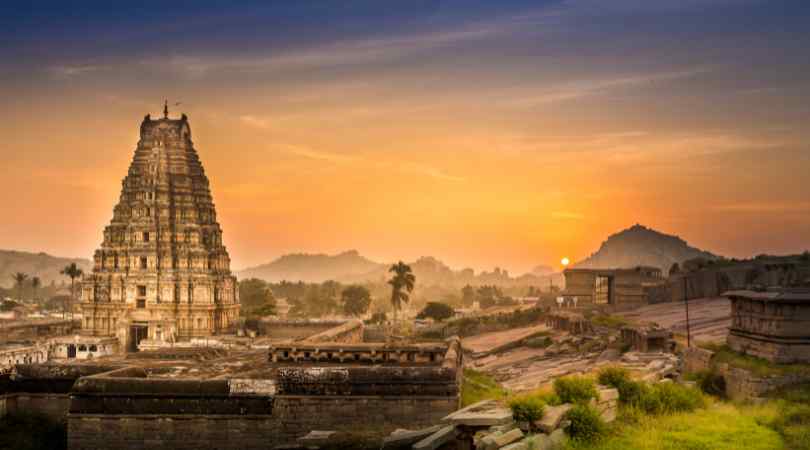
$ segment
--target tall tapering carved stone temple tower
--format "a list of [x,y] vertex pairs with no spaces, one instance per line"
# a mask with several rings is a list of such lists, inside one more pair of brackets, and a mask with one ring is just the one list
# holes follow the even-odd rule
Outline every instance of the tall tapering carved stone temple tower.
[[128,351],[225,332],[239,292],[183,114],[141,123],[113,218],[82,280],[82,334]]

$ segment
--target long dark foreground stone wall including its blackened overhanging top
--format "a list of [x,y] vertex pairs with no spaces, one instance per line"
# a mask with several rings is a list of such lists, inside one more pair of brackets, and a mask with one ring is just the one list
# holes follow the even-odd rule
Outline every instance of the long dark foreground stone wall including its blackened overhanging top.
[[68,448],[266,449],[312,430],[381,439],[458,408],[461,358],[456,338],[428,367],[280,367],[272,379],[213,380],[148,378],[131,367],[89,376],[71,391]]

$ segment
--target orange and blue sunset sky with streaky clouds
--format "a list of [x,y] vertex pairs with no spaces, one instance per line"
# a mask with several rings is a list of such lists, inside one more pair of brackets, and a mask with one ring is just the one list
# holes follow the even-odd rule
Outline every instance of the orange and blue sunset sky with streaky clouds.
[[641,223],[810,248],[810,2],[0,6],[0,248],[90,257],[185,112],[232,267],[573,261]]

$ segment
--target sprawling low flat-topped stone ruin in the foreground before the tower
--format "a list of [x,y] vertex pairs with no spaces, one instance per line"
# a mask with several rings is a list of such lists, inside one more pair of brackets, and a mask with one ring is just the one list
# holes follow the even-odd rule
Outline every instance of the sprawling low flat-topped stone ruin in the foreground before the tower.
[[[70,449],[274,448],[312,430],[381,441],[458,409],[460,340],[363,343],[349,321],[266,349],[175,347],[0,377],[0,416],[66,422]],[[285,356],[286,355],[286,356]]]

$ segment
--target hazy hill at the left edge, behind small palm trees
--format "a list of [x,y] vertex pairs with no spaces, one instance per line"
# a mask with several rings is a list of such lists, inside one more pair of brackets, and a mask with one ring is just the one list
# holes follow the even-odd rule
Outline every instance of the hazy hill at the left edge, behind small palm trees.
[[76,263],[84,273],[92,270],[90,260],[81,258],[60,258],[47,253],[18,252],[15,250],[0,250],[0,286],[12,287],[12,275],[17,272],[28,274],[28,278],[39,277],[43,285],[51,281],[57,284],[67,281],[68,278],[59,274],[65,266]]

